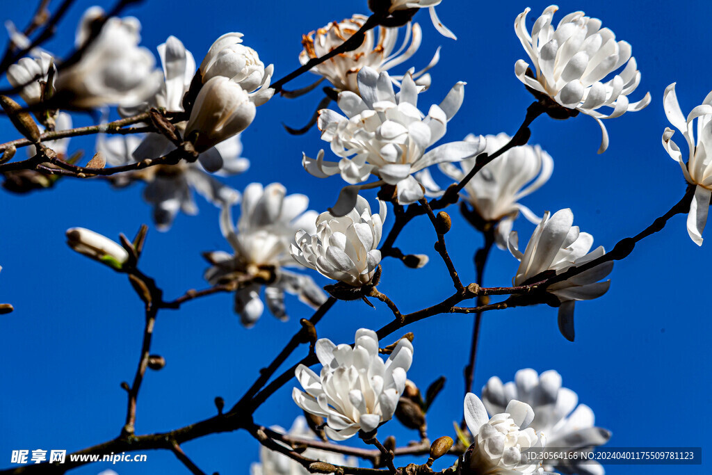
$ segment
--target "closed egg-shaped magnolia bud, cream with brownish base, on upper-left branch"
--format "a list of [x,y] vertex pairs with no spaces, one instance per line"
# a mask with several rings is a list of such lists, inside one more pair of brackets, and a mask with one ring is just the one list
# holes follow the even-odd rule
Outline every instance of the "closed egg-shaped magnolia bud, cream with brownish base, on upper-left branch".
[[239,84],[223,76],[212,78],[198,93],[186,137],[197,152],[205,152],[245,130],[255,113],[255,105]]

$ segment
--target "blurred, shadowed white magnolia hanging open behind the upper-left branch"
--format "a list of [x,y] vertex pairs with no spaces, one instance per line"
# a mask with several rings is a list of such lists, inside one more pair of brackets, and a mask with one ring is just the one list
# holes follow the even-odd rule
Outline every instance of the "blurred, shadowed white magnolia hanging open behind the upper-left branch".
[[[109,138],[99,135],[96,150],[103,154],[108,165],[112,167],[128,165],[137,160],[160,157],[174,148],[170,142],[159,140],[158,137],[164,138],[158,134],[150,134],[144,138],[137,135]],[[153,220],[157,228],[166,231],[179,211],[189,215],[197,214],[198,207],[192,190],[217,207],[239,201],[239,192],[207,173],[208,168],[203,164],[210,162],[201,159],[204,155],[208,155],[208,159],[216,157],[222,165],[218,174],[234,174],[249,166],[248,160],[240,157],[241,152],[240,137],[236,135],[202,153],[197,162],[182,160],[177,165],[155,165],[122,173],[115,178],[114,183],[125,187],[132,182],[146,182],[143,198],[153,205]]]

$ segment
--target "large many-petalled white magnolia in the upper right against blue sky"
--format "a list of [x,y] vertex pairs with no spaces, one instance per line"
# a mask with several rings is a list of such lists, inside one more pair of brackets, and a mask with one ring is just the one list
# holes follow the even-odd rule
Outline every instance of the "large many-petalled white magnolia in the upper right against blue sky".
[[[628,95],[640,83],[640,72],[632,48],[616,41],[615,34],[601,28],[601,21],[575,11],[552,25],[558,7],[549,6],[535,21],[531,35],[526,31],[525,9],[514,22],[514,30],[533,63],[534,76],[527,73],[529,64],[520,59],[515,73],[520,81],[537,93],[548,95],[564,108],[577,110],[595,118],[603,133],[599,153],[608,148],[608,132],[601,119],[610,119],[628,111],[641,110],[650,103],[650,93],[636,103]],[[602,82],[625,65],[623,71]],[[599,108],[609,108],[604,114]]]

